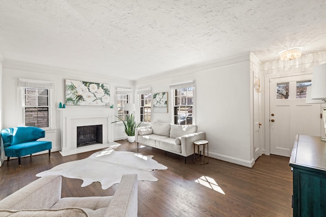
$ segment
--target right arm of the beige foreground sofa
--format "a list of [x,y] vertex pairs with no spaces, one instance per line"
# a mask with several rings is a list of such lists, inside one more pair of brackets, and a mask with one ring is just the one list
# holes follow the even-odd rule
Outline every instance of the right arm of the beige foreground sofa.
[[104,216],[137,216],[137,212],[138,176],[137,174],[124,174]]

